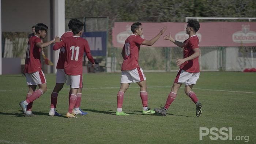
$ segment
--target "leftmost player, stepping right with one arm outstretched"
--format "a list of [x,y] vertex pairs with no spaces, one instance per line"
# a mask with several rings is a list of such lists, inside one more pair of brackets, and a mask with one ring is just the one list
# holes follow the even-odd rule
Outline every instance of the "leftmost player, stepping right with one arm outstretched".
[[[25,70],[27,85],[29,86],[29,91],[27,92],[27,98],[25,101],[19,103],[26,117],[35,116],[31,112],[33,101],[39,98],[42,94],[47,91],[46,79],[44,72],[42,71],[40,52],[41,49],[46,48],[51,43],[54,43],[55,38],[52,41],[42,43],[46,35],[48,27],[43,23],[38,23],[35,25],[35,35],[29,39],[27,43],[27,52],[25,60]],[[37,88],[39,89],[35,90]]]

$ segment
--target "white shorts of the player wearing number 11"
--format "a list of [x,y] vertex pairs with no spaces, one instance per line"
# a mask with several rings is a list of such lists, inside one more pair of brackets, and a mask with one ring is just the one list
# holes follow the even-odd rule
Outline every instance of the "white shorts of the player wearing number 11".
[[82,75],[66,75],[67,85],[71,85],[71,88],[82,88],[83,86],[83,74]]

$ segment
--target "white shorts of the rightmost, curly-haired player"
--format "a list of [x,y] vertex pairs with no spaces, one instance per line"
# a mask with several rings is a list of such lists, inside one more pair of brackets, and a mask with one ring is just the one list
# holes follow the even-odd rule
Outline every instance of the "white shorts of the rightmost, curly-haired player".
[[186,86],[190,86],[192,84],[196,84],[196,81],[199,79],[200,72],[186,72],[183,69],[178,71],[176,79],[174,83],[185,84]]

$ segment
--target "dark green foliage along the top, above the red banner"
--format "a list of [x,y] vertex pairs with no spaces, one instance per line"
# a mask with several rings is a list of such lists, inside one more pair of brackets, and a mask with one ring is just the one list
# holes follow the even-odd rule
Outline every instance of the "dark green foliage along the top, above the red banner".
[[66,0],[65,2],[66,18],[109,16],[110,24],[113,21],[184,22],[185,17],[255,17],[256,15],[255,0]]

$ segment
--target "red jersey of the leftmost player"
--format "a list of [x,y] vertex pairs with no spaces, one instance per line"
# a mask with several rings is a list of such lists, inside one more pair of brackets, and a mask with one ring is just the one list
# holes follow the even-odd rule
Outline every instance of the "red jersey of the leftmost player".
[[42,71],[42,65],[40,60],[41,49],[36,46],[41,39],[36,35],[32,36],[27,42],[27,52],[25,59],[25,73],[33,73],[37,71]]

